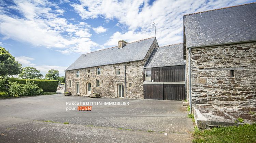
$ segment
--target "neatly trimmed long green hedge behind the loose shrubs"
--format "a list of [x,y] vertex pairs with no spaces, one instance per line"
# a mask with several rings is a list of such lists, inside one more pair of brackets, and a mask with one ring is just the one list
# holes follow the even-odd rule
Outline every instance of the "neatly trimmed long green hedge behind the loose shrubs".
[[26,83],[27,80],[33,81],[38,84],[39,88],[42,88],[44,92],[56,92],[58,88],[57,80],[42,80],[42,79],[18,79],[18,78],[8,78],[11,82],[17,81],[18,83]]

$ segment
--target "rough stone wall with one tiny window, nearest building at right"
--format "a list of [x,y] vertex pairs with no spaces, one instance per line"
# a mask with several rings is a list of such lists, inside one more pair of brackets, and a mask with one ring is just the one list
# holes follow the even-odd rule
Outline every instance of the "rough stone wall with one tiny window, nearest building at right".
[[256,106],[255,42],[191,50],[193,104]]

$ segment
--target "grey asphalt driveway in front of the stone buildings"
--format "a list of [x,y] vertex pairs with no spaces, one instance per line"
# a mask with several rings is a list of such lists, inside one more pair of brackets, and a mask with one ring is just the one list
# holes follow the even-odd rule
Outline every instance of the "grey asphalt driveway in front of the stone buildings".
[[[67,102],[102,105],[67,111],[77,108]],[[56,94],[0,100],[0,113],[0,142],[190,142],[194,128],[182,101]]]

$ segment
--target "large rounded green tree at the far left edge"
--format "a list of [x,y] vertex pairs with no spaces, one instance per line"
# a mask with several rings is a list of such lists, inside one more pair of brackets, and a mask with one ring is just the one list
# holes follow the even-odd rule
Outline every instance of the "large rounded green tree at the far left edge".
[[0,47],[0,76],[18,75],[21,72],[22,65],[15,60],[9,51]]

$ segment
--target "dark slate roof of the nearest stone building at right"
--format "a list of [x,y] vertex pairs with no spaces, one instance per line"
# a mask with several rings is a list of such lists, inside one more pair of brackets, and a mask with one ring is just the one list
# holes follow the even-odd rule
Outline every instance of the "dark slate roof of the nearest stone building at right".
[[187,47],[256,40],[256,3],[184,15]]

